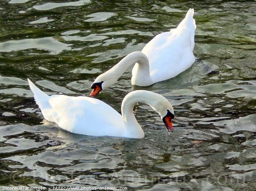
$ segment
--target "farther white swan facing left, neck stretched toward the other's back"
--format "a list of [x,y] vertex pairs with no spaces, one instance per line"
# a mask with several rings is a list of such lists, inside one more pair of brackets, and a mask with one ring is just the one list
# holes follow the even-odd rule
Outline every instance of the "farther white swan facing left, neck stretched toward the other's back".
[[91,88],[90,96],[96,96],[102,89],[116,83],[118,78],[133,66],[131,83],[136,86],[150,86],[154,83],[177,76],[195,62],[194,9],[189,9],[186,17],[176,29],[155,36],[142,51],[135,51],[124,57],[113,68],[100,74]]

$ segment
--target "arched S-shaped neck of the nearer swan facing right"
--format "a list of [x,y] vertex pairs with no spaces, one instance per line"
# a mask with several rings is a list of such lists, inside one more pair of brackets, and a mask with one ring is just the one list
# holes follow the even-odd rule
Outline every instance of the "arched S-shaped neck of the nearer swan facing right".
[[[125,96],[122,101],[122,117],[125,123],[125,136],[131,138],[143,138],[144,132],[139,123],[137,122],[133,108],[136,103],[146,103],[155,110],[157,107],[157,94],[151,91],[133,91]],[[156,111],[156,110],[155,110]]]

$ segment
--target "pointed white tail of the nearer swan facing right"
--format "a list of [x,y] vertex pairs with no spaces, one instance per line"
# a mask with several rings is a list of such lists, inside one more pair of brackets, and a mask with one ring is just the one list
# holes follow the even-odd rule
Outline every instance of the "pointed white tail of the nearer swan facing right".
[[29,82],[29,87],[31,89],[31,91],[34,94],[34,98],[35,98],[35,103],[39,106],[39,108],[41,109],[41,111],[43,109],[46,108],[51,108],[51,106],[49,105],[49,96],[44,93],[43,91],[41,91],[38,87],[35,86],[35,84],[33,84],[29,79],[27,79]]

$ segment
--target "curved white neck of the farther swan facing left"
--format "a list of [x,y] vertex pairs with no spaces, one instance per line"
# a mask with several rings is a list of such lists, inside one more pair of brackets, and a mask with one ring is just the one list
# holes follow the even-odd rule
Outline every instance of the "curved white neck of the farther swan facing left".
[[[109,79],[112,79],[113,81],[115,81],[113,82],[114,84],[116,83],[118,78],[122,76],[122,74],[130,66],[133,66],[135,63],[138,65],[137,73],[140,74],[141,77],[143,77],[143,81],[147,83],[148,82],[151,83],[152,80],[149,72],[148,57],[145,54],[143,54],[141,51],[134,51],[131,54],[128,54],[119,63],[117,63],[111,69],[106,71],[104,75],[108,76]],[[140,84],[136,84],[136,85],[140,86]]]

